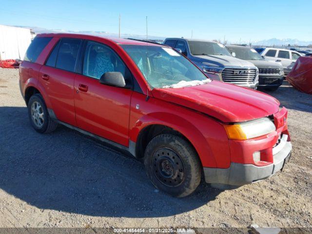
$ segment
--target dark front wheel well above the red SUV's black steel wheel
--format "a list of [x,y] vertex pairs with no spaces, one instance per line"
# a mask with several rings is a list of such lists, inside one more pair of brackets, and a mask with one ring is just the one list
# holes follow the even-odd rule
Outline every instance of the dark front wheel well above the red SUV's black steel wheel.
[[[174,130],[173,128],[170,128],[165,125],[160,125],[160,124],[153,124],[145,127],[144,129],[141,130],[137,137],[137,143],[136,143],[136,155],[137,158],[142,158],[144,157],[144,152],[145,149],[148,145],[148,143],[156,136],[160,134],[173,134],[180,136],[187,140],[191,145],[192,143],[181,133],[178,131]],[[193,145],[192,145],[193,146]]]

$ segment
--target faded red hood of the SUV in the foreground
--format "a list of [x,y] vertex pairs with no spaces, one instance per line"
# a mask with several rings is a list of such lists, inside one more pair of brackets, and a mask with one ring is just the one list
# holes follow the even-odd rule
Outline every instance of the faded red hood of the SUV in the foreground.
[[219,81],[183,88],[153,89],[155,98],[215,117],[222,122],[242,122],[270,116],[279,101],[270,95]]

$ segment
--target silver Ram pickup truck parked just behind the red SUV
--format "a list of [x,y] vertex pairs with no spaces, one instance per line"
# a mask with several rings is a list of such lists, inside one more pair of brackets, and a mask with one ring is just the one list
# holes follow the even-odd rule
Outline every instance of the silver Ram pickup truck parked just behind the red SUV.
[[167,38],[164,44],[185,55],[213,80],[252,89],[259,84],[258,68],[251,62],[234,58],[223,44],[184,38]]

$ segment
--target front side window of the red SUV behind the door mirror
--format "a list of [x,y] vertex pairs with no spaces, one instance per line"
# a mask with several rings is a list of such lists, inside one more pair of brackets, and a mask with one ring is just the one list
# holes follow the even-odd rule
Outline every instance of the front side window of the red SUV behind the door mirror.
[[125,78],[126,84],[130,82],[130,72],[111,48],[95,41],[88,41],[82,74],[99,79],[106,72],[120,72]]

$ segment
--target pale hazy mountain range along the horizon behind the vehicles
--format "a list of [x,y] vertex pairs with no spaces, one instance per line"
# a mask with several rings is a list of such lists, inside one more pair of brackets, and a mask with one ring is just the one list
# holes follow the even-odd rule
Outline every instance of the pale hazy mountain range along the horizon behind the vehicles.
[[[109,33],[105,31],[66,31],[66,30],[59,30],[59,29],[46,29],[46,28],[39,28],[39,27],[28,27],[28,26],[17,26],[22,28],[30,28],[36,34],[39,33],[79,33],[79,34],[87,34],[87,35],[97,35],[97,36],[104,36],[109,38],[117,38],[117,33]],[[136,35],[136,34],[121,34],[121,38],[134,38],[134,39],[146,39],[146,35]],[[164,37],[157,37],[157,36],[148,36],[149,39],[154,40],[164,40]],[[312,41],[302,41],[298,39],[266,39],[266,40],[255,40],[251,41],[253,45],[264,45],[264,46],[287,46],[290,45],[300,45],[300,46],[307,46],[312,45]]]

